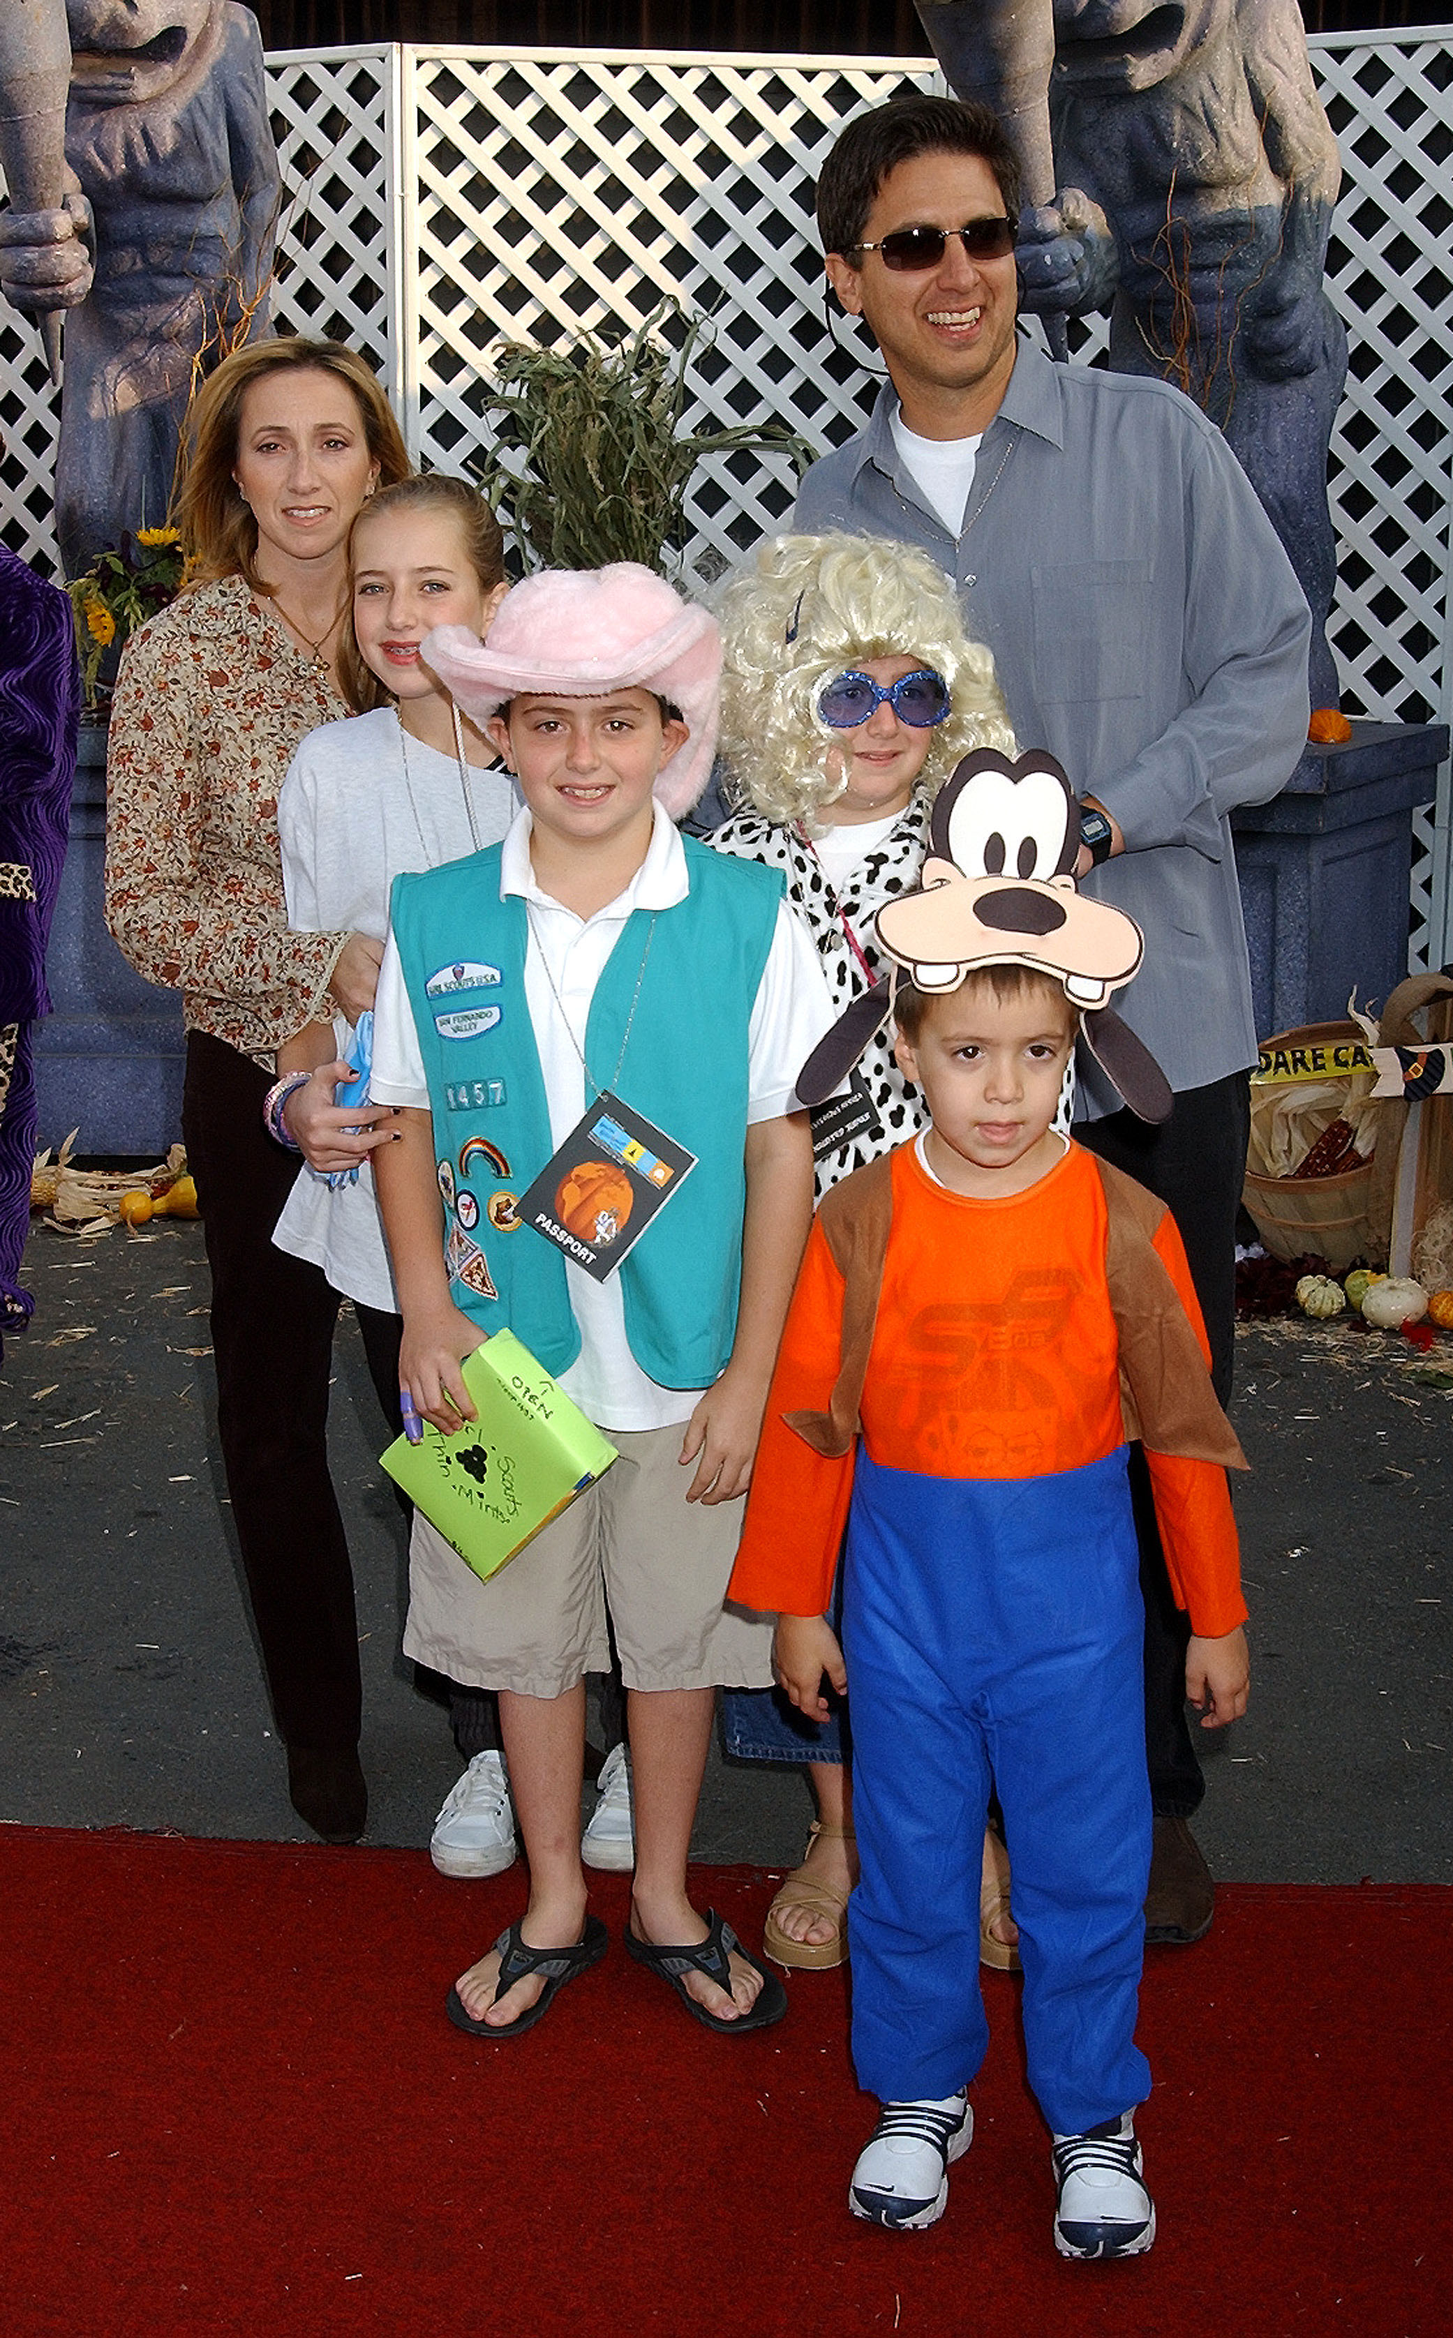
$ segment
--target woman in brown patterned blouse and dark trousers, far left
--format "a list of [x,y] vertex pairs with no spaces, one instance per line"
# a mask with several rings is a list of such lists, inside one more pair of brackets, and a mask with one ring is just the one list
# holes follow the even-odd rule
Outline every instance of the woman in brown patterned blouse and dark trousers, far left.
[[[105,914],[147,982],[183,991],[183,1136],[213,1274],[218,1429],[292,1807],[330,1842],[367,1817],[349,1545],[328,1478],[337,1293],[274,1248],[295,1139],[264,1108],[278,1047],[372,1005],[381,945],[290,933],[278,790],[299,739],[349,713],[349,533],[409,470],[363,358],[255,341],[204,383],[180,493],[187,584],[126,648],[108,758]],[[328,1111],[335,1111],[328,1106]],[[391,1136],[388,1113],[365,1122]],[[379,1391],[398,1333],[358,1309]]]

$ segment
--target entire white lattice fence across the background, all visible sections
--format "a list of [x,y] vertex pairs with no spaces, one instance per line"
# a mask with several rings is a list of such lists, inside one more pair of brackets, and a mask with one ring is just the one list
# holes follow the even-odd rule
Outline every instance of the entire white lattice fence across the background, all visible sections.
[[[1352,341],[1331,449],[1341,580],[1331,641],[1350,708],[1453,711],[1451,444],[1453,28],[1331,35],[1313,68],[1345,189],[1329,290]],[[873,381],[833,344],[812,180],[847,115],[922,58],[576,56],[360,49],[269,63],[285,210],[276,318],[360,346],[412,451],[468,468],[501,339],[634,327],[662,295],[714,316],[690,421],[784,419],[817,444],[856,428]],[[395,189],[395,194],[391,194]],[[1079,346],[1093,360],[1104,332]],[[0,309],[0,533],[54,563],[54,400],[33,332]],[[774,526],[791,470],[702,468],[686,566],[709,575]],[[1453,949],[1448,786],[1418,830],[1413,959]]]

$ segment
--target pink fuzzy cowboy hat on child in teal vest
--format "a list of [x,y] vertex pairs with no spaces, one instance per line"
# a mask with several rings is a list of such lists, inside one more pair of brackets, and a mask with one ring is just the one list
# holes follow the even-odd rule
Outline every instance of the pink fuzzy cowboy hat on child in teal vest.
[[519,692],[604,699],[613,690],[655,690],[681,708],[690,732],[655,776],[657,802],[679,821],[711,776],[721,694],[716,617],[639,561],[545,568],[505,594],[484,641],[463,624],[435,627],[423,662],[475,722]]

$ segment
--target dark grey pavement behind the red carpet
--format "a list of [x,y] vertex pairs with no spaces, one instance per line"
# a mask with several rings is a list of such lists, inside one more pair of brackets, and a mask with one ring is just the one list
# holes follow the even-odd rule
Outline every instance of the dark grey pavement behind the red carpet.
[[[285,1796],[213,1424],[199,1225],[35,1227],[0,1368],[0,1821],[311,1840]],[[1348,1326],[1238,1347],[1252,1711],[1210,1737],[1198,1835],[1245,1882],[1453,1882],[1453,1342]],[[1437,1384],[1446,1363],[1451,1386]],[[370,1842],[423,1845],[459,1772],[398,1653],[402,1527],[351,1321],[335,1480],[358,1576]],[[697,1856],[800,1856],[791,1770],[711,1761]]]

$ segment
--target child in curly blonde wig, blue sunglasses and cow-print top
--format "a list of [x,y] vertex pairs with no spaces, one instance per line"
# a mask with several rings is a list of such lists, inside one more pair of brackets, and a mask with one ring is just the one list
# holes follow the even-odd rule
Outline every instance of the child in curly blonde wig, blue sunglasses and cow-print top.
[[[863,535],[779,535],[721,596],[721,750],[739,809],[709,837],[786,877],[842,1008],[882,966],[873,912],[917,884],[929,811],[976,746],[1015,753],[994,659],[964,636],[952,582],[922,552]],[[891,1052],[868,1045],[852,1094],[812,1115],[817,1197],[927,1125]],[[728,1690],[725,1742],[742,1761],[807,1763],[817,1798],[807,1856],[767,1910],[777,1964],[847,1957],[856,1882],[847,1711],[805,1721],[779,1690]],[[1006,1859],[985,1840],[980,1938],[1015,1957]]]

